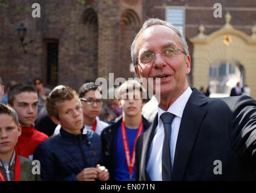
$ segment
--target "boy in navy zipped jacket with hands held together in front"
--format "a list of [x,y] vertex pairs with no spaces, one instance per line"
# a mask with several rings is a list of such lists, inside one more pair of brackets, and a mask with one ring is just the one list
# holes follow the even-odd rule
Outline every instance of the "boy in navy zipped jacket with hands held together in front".
[[108,170],[100,166],[100,136],[84,127],[76,91],[62,85],[55,87],[47,96],[45,107],[61,130],[34,152],[34,159],[41,163],[42,180],[108,180]]

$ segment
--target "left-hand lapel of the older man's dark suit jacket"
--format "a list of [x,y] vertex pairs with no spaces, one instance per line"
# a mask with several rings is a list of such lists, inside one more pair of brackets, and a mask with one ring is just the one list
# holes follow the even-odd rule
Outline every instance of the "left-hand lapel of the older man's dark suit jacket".
[[142,144],[142,164],[140,165],[140,173],[145,174],[146,180],[151,180],[148,172],[146,171],[146,164],[148,163],[149,158],[149,149],[151,146],[151,142],[154,138],[154,131],[158,124],[158,115],[155,116],[153,124],[143,133],[143,144]]

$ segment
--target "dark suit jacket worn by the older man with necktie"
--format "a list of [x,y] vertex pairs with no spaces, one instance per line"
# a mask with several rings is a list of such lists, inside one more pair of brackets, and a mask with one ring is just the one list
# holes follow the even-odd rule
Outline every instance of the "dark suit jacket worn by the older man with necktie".
[[[137,139],[136,180],[150,180],[146,164],[156,126],[157,116]],[[255,180],[255,149],[255,100],[249,96],[208,98],[193,89],[180,123],[172,179]],[[222,174],[214,174],[216,166],[222,167]]]

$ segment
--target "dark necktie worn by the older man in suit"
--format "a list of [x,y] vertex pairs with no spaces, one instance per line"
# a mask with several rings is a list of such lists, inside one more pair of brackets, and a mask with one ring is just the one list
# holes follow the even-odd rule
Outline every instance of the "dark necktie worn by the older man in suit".
[[160,116],[165,128],[165,138],[163,139],[162,150],[162,179],[163,181],[171,180],[171,152],[170,152],[170,139],[171,139],[171,123],[175,115],[165,112]]

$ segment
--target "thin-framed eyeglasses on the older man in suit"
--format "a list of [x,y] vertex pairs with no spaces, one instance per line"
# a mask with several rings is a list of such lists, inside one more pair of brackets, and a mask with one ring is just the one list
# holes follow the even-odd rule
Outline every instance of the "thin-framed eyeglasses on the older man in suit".
[[146,65],[152,60],[154,60],[155,55],[157,53],[161,54],[162,57],[164,57],[165,59],[171,59],[176,57],[176,55],[179,54],[179,52],[182,52],[186,55],[185,51],[182,51],[179,48],[165,48],[161,52],[143,52],[139,57],[137,57],[137,59],[140,59],[140,63],[142,65]]

